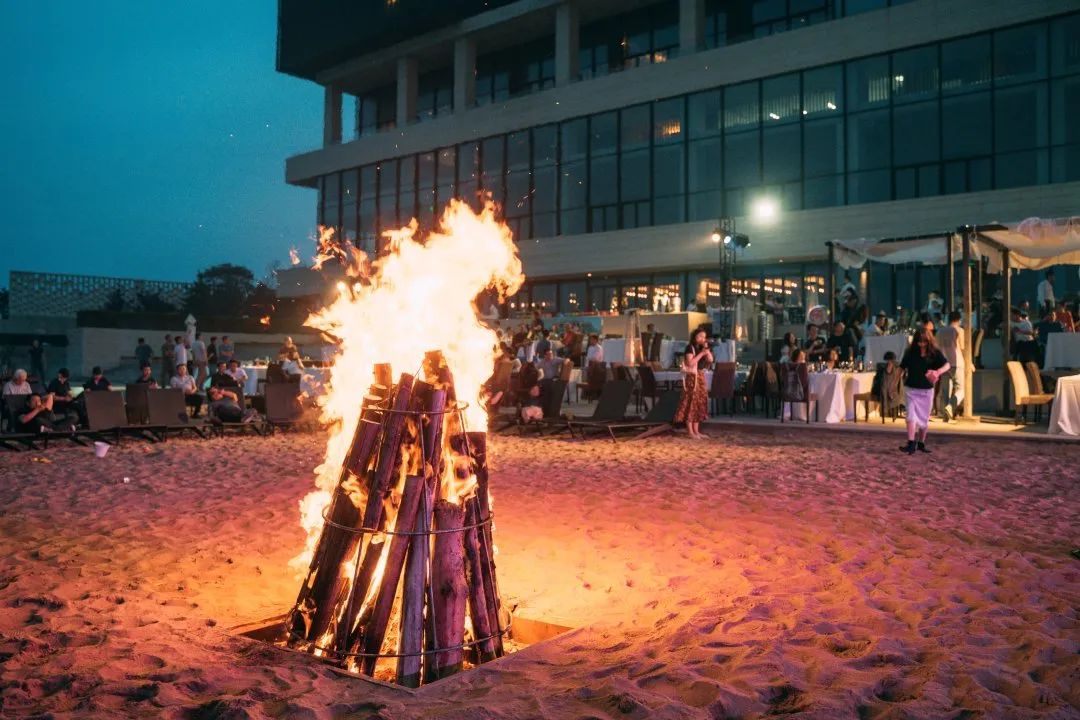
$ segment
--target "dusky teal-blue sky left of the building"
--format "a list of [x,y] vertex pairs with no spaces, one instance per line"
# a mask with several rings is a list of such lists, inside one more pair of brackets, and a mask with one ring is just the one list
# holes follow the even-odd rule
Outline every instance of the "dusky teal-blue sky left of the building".
[[284,159],[321,144],[322,92],[274,71],[276,4],[0,3],[0,287],[310,253]]

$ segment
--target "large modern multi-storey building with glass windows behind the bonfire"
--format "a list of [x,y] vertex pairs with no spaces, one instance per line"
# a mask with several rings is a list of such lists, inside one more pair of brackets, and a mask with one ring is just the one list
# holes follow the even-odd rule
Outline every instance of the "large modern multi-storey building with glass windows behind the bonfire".
[[[806,307],[828,241],[1080,214],[1077,0],[279,9],[278,69],[325,87],[323,147],[285,168],[318,221],[373,250],[489,193],[526,305],[714,303],[721,218],[752,241],[734,290]],[[875,276],[872,303],[940,272]]]

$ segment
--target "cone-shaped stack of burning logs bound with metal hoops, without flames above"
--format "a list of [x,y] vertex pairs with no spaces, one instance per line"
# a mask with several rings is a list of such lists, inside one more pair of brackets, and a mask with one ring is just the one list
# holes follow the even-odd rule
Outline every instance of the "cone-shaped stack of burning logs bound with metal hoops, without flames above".
[[286,627],[295,649],[409,688],[499,657],[507,626],[486,435],[442,353],[421,375],[376,368]]

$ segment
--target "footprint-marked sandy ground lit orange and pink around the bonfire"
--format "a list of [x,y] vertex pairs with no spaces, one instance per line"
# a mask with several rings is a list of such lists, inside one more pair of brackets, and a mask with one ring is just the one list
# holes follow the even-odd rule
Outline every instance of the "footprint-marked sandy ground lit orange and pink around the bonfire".
[[227,631],[321,436],[4,453],[0,717],[1080,717],[1080,451],[893,446],[494,440],[504,595],[580,629],[416,696]]

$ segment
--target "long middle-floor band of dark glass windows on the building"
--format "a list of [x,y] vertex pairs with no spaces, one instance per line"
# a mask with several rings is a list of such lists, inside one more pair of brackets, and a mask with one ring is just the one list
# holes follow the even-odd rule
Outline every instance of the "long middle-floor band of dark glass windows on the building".
[[335,173],[320,221],[364,241],[489,194],[525,240],[738,216],[760,195],[798,210],[1065,182],[1077,118],[1071,14]]

